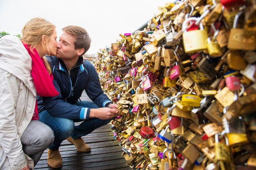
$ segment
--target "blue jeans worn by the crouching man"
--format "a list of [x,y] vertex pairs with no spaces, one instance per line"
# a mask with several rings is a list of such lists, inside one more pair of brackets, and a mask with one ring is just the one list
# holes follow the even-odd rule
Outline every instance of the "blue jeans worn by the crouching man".
[[[92,101],[77,101],[75,105],[92,109],[99,108],[99,106]],[[39,121],[47,124],[54,132],[55,138],[53,144],[49,147],[51,150],[58,150],[62,141],[69,136],[73,139],[79,139],[111,121],[111,119],[101,120],[98,118],[90,118],[89,120],[57,118],[50,115],[47,110],[40,111],[38,116]],[[80,125],[75,126],[74,122],[81,121],[83,122]]]

